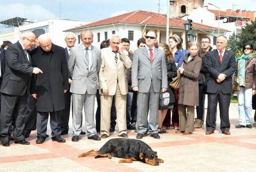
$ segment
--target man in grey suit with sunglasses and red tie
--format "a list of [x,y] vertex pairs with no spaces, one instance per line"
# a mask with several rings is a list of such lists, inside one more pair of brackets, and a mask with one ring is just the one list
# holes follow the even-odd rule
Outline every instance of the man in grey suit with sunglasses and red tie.
[[164,51],[154,47],[157,34],[154,30],[146,34],[146,47],[134,51],[132,61],[132,89],[138,91],[138,134],[143,138],[147,130],[148,108],[150,111],[149,125],[153,138],[158,134],[158,103],[160,89],[167,90],[167,69]]

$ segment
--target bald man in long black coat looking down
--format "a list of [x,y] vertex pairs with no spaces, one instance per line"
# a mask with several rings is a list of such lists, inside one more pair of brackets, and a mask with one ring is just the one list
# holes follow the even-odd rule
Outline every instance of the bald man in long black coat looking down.
[[46,138],[47,122],[50,113],[52,140],[66,142],[60,136],[60,115],[65,107],[64,93],[68,89],[68,66],[64,48],[54,45],[46,34],[38,37],[39,47],[31,51],[33,66],[43,73],[32,77],[32,96],[37,99],[36,111],[37,140],[43,143]]

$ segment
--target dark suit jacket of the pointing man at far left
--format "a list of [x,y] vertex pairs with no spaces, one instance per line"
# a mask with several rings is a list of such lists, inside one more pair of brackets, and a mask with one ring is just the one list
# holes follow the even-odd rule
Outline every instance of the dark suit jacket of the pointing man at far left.
[[[28,51],[29,53],[29,51]],[[5,52],[6,67],[2,80],[1,93],[21,96],[30,91],[31,77],[34,67],[25,54],[22,45],[16,42]]]

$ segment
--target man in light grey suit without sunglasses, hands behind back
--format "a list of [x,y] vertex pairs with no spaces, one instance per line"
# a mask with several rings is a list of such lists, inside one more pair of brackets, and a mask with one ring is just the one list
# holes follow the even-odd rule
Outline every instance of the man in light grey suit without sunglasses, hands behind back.
[[79,140],[84,107],[87,136],[100,140],[96,135],[94,123],[94,103],[98,89],[98,71],[100,70],[100,49],[92,46],[93,34],[86,30],[81,32],[82,44],[71,49],[68,69],[72,77],[70,92],[73,107],[73,136],[72,141]]

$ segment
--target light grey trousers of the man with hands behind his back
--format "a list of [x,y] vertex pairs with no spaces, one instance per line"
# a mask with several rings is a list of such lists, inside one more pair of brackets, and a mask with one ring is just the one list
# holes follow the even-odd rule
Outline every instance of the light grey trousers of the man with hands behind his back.
[[73,111],[73,135],[80,135],[82,123],[82,110],[84,107],[85,125],[87,136],[96,134],[94,122],[94,104],[96,94],[75,94],[72,93],[72,111]]

